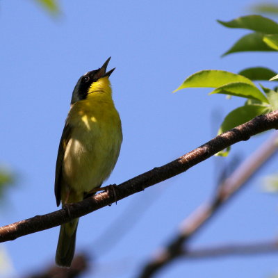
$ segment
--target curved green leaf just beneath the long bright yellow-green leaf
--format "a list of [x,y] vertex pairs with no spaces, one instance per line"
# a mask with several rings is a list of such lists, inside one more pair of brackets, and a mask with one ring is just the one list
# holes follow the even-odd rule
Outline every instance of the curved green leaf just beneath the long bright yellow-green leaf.
[[242,82],[234,82],[222,85],[221,87],[216,88],[211,94],[225,94],[225,95],[234,95],[236,97],[245,97],[247,99],[257,99],[261,102],[268,103],[268,99],[263,95],[263,93],[256,88],[254,85],[250,85]]

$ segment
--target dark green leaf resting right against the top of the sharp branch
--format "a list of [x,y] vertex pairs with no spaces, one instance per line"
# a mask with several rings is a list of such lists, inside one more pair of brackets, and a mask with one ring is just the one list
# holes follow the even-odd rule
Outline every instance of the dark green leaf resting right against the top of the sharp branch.
[[252,120],[254,117],[270,112],[268,107],[262,105],[245,105],[231,111],[222,122],[218,134],[221,134],[229,129],[234,129],[235,126],[244,124]]

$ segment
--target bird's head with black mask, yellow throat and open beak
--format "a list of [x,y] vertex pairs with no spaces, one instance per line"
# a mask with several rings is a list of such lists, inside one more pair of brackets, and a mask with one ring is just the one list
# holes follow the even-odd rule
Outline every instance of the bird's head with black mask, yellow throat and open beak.
[[92,70],[80,77],[72,92],[71,104],[87,99],[90,94],[106,93],[111,95],[111,84],[108,78],[115,70],[115,67],[109,72],[106,72],[110,59],[111,57],[98,70]]

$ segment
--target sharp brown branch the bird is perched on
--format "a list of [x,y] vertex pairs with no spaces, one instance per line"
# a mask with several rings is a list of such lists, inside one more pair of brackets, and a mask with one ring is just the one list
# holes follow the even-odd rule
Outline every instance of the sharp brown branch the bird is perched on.
[[165,179],[170,179],[177,174],[181,174],[190,167],[213,156],[213,154],[220,152],[222,149],[234,145],[236,142],[248,140],[251,136],[269,129],[278,129],[278,111],[255,117],[250,120],[250,122],[246,122],[245,124],[236,126],[230,131],[220,134],[220,136],[213,138],[204,145],[170,163],[161,167],[155,167],[153,170],[121,183],[119,186],[115,187],[116,196],[114,196],[114,190],[99,193],[98,195],[84,199],[82,202],[67,204],[65,208],[59,211],[54,211],[45,215],[37,215],[33,218],[0,227],[0,242],[15,240],[20,236],[26,236],[27,234],[50,229],[60,224],[70,222],[74,218],[79,218],[99,208],[112,204],[115,202],[116,197],[117,201],[119,201],[149,186],[165,181]]

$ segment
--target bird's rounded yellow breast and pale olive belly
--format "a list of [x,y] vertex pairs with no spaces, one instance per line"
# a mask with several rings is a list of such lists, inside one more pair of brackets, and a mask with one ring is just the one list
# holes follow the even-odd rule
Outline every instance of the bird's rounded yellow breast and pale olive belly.
[[72,136],[65,149],[63,176],[77,193],[88,192],[109,177],[120,153],[122,127],[113,100],[96,94],[78,101],[67,122]]

